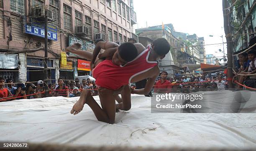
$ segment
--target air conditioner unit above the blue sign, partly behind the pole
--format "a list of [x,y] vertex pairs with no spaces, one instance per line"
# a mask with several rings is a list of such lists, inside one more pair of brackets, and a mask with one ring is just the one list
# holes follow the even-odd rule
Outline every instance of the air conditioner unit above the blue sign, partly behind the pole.
[[[44,20],[45,18],[45,8],[44,7],[34,7],[32,8],[32,16],[37,18],[38,20]],[[48,20],[53,20],[53,12],[51,10],[47,10],[47,18]]]

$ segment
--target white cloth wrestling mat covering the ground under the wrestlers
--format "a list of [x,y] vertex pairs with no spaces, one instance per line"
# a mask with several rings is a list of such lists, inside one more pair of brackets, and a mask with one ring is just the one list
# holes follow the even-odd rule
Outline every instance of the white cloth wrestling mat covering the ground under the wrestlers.
[[[216,100],[214,93],[205,93],[208,103],[225,103]],[[225,99],[234,94],[215,93],[223,93]],[[250,110],[255,111],[256,92],[247,93],[251,93]],[[100,103],[98,96],[94,98]],[[151,98],[132,95],[131,110],[117,113],[116,123],[111,125],[97,121],[87,105],[78,115],[71,115],[77,100],[49,97],[0,102],[0,141],[79,146],[256,147],[256,113],[151,113]]]

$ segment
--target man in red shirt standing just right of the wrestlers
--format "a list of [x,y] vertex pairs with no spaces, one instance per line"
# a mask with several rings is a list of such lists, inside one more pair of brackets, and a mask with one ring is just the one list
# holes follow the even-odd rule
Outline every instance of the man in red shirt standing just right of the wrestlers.
[[170,93],[171,92],[171,82],[166,80],[168,73],[166,71],[162,71],[161,78],[159,81],[156,81],[154,86],[155,93]]

